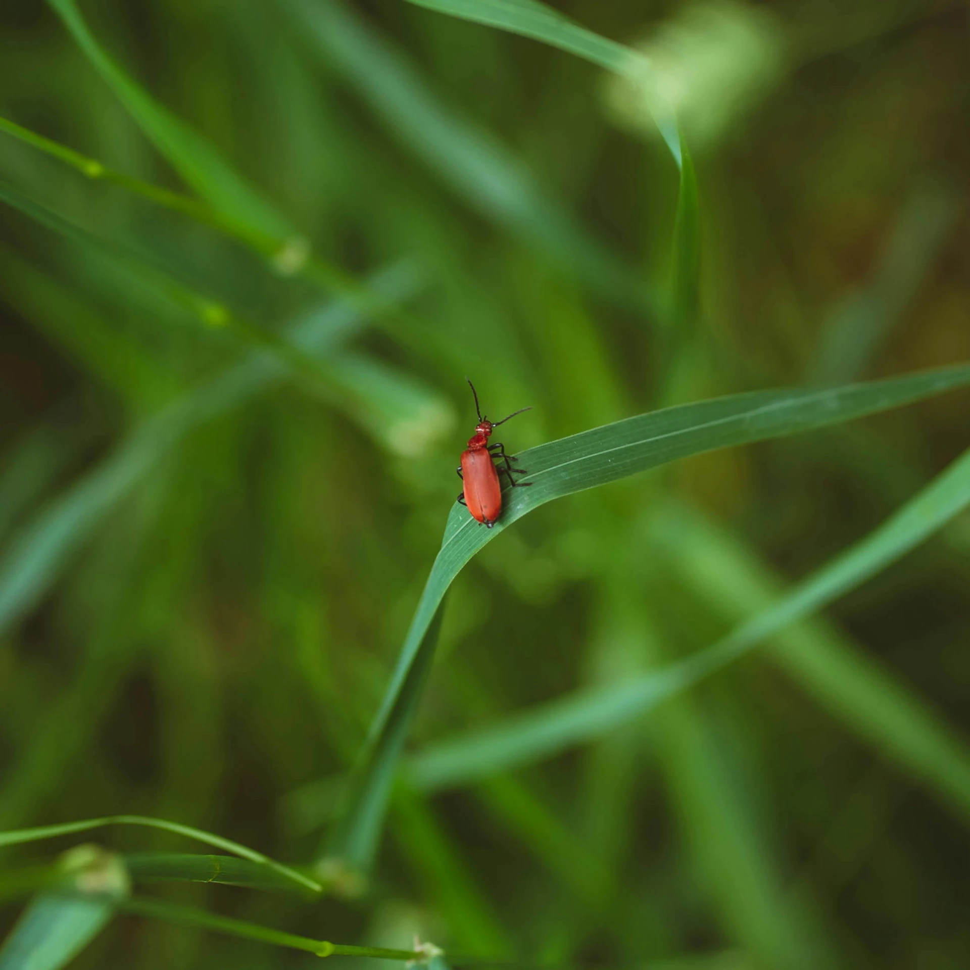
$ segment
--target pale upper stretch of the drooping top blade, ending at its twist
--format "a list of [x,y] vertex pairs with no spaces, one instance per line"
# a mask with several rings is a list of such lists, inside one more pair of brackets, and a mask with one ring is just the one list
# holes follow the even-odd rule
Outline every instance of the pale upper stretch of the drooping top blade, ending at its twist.
[[639,51],[600,37],[537,0],[408,0],[418,7],[530,37],[639,81],[670,154],[680,165],[680,138],[672,111],[657,90],[650,61]]

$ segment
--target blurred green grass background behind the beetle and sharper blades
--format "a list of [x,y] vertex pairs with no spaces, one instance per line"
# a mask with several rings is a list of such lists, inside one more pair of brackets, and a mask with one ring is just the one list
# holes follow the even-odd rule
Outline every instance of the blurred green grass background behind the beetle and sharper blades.
[[[558,7],[646,49],[678,109],[700,186],[693,331],[663,295],[676,167],[590,64],[397,0],[82,4],[290,243],[274,265],[0,133],[5,186],[253,321],[219,326],[4,206],[0,828],[131,812],[317,857],[460,487],[466,374],[490,415],[533,405],[503,429],[519,451],[658,404],[970,358],[965,5]],[[2,116],[185,187],[51,6],[8,0],[0,44]],[[404,312],[288,274],[307,244]],[[303,328],[330,370],[268,366],[257,327]],[[951,461],[967,404],[544,506],[452,589],[412,749],[712,642]],[[964,735],[968,535],[797,633]],[[970,799],[940,800],[775,655],[545,763],[403,787],[361,899],[172,897],[557,966],[967,966]],[[125,920],[76,965],[311,959]]]

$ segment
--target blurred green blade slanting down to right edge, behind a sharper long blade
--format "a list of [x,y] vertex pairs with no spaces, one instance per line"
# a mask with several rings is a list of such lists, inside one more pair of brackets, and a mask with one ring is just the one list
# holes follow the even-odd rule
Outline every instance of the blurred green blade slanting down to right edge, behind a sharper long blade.
[[[698,598],[735,619],[770,606],[780,581],[727,533],[686,506],[658,516],[655,548]],[[817,619],[779,631],[766,659],[834,717],[970,817],[970,747],[918,696]]]

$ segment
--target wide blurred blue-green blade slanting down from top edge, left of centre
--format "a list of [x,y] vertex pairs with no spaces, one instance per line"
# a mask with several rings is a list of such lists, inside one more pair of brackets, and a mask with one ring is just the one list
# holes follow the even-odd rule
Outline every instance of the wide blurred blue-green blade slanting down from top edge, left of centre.
[[605,297],[655,308],[658,294],[542,191],[517,158],[439,103],[404,58],[342,3],[286,0],[300,39],[361,93],[410,150],[486,218],[516,231]]

